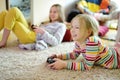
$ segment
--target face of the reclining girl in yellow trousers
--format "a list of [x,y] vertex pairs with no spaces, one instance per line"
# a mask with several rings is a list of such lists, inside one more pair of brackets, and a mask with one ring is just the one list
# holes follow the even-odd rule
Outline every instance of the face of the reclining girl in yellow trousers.
[[52,22],[58,20],[59,13],[58,13],[57,7],[55,7],[55,6],[51,7],[49,17],[50,17],[50,19],[51,19]]

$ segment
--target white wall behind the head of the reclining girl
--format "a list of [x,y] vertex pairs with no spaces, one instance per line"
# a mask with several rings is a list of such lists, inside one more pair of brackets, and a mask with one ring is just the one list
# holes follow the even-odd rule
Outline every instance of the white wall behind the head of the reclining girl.
[[55,3],[61,4],[67,15],[75,1],[76,0],[31,0],[31,22],[33,24],[39,24],[48,19],[49,9]]

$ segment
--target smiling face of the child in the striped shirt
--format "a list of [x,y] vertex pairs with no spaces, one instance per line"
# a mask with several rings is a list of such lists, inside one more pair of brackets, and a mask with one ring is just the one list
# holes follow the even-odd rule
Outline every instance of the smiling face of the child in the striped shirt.
[[86,41],[86,38],[89,35],[89,31],[84,26],[85,22],[82,21],[80,23],[79,19],[75,18],[72,20],[71,24],[72,24],[72,28],[71,28],[72,39],[74,41],[79,41],[79,42]]

